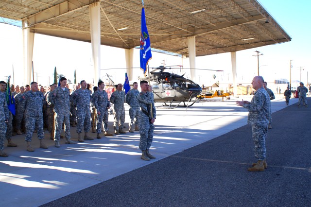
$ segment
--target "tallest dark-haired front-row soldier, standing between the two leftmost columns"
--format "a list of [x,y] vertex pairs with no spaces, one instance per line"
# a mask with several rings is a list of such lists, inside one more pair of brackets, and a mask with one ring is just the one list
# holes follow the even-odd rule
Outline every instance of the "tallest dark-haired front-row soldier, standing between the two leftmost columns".
[[75,144],[76,142],[71,141],[70,138],[70,99],[69,89],[66,87],[67,79],[61,77],[60,86],[55,88],[48,96],[48,104],[54,104],[54,121],[55,121],[55,134],[54,141],[55,147],[60,147],[59,140],[62,132],[63,123],[65,123],[65,138],[66,144]]

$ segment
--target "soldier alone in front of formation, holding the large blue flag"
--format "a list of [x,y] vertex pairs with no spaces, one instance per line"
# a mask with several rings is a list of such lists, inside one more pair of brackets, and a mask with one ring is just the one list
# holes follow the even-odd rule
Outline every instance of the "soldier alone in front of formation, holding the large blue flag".
[[155,103],[152,86],[147,81],[140,82],[141,92],[138,94],[138,104],[141,108],[139,112],[139,149],[142,152],[141,159],[149,161],[155,159],[155,156],[149,153],[152,140],[154,138],[155,122]]

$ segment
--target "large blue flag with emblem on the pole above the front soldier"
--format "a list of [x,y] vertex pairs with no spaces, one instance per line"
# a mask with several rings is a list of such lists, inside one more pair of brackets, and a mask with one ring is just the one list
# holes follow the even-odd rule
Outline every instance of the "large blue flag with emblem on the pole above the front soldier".
[[142,1],[141,9],[141,32],[140,32],[140,69],[144,72],[146,76],[146,66],[149,60],[152,58],[150,38],[146,25],[144,2]]

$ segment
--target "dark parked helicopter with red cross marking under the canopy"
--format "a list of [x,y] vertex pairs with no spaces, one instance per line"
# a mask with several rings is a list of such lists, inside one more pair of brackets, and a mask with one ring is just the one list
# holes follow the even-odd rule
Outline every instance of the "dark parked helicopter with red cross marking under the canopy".
[[[164,103],[164,107],[176,108],[192,106],[196,96],[201,94],[202,88],[183,75],[166,72],[171,69],[159,66],[150,72],[150,84],[153,87],[155,103]],[[149,77],[138,77],[140,81],[149,80]]]

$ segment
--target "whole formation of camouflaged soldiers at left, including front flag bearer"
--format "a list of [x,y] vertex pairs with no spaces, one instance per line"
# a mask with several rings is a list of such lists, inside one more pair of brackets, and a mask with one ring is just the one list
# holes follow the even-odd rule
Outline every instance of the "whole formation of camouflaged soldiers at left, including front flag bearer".
[[[146,89],[147,82],[143,82]],[[140,84],[140,86],[142,86]],[[133,133],[140,130],[142,137],[141,143],[144,147],[141,158],[150,160],[155,158],[149,153],[149,148],[153,139],[153,123],[155,121],[154,99],[149,88],[139,93],[138,83],[134,83],[134,88],[125,95],[122,85],[118,84],[117,90],[111,94],[110,100],[104,90],[104,82],[99,81],[98,86],[94,87],[94,93],[89,89],[86,81],[81,81],[75,89],[70,92],[65,77],[60,78],[59,86],[56,83],[49,86],[49,91],[45,92],[43,86],[38,86],[36,82],[24,86],[11,86],[11,96],[15,98],[16,114],[15,116],[8,110],[6,97],[7,84],[0,82],[0,156],[8,156],[4,153],[4,137],[7,139],[8,147],[17,147],[13,143],[12,136],[25,133],[27,142],[27,151],[34,152],[31,145],[34,133],[40,140],[40,148],[47,149],[44,143],[44,127],[47,128],[50,138],[54,141],[55,147],[60,147],[60,138],[62,129],[65,131],[66,144],[76,144],[71,140],[70,127],[76,127],[78,141],[93,140],[88,135],[91,127],[92,131],[97,133],[96,138],[101,139],[101,133],[105,137],[114,136],[108,130],[108,110],[113,104],[114,108],[114,134],[125,134],[123,131],[125,122],[124,103],[129,104],[129,132]],[[39,88],[40,87],[40,88]],[[145,97],[145,98],[144,98]],[[147,101],[146,101],[147,100]],[[141,102],[141,103],[140,103]],[[148,109],[147,113],[141,113],[140,107],[147,108],[152,105],[153,112]],[[92,112],[92,113],[91,113]],[[142,121],[139,121],[142,120]],[[152,121],[150,121],[152,120]],[[138,127],[139,124],[139,127]],[[14,129],[13,129],[14,126]],[[96,129],[96,130],[95,130]],[[150,130],[151,129],[151,130]],[[81,135],[84,131],[84,136]],[[146,145],[146,143],[148,143]]]

